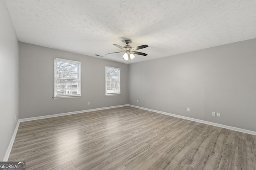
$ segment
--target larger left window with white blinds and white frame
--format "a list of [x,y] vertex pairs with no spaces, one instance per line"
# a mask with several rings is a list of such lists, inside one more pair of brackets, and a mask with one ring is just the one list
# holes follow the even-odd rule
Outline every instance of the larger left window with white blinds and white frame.
[[81,62],[54,58],[53,98],[81,96]]

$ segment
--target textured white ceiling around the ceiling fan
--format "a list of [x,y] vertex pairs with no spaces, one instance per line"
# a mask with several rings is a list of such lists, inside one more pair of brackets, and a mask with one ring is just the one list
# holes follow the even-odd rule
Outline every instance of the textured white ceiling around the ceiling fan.
[[[256,0],[6,0],[19,41],[130,63],[256,38]],[[95,57],[95,56],[94,56]]]

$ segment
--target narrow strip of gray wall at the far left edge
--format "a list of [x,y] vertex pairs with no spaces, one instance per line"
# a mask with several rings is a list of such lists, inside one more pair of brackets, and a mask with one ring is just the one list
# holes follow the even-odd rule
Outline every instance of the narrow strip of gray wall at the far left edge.
[[18,39],[4,0],[0,0],[0,21],[0,160],[2,161],[19,119]]

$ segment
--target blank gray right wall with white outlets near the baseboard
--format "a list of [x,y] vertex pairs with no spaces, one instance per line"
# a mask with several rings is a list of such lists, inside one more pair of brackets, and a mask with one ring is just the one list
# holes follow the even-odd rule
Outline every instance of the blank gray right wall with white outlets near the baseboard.
[[256,39],[129,64],[129,89],[135,106],[256,131]]

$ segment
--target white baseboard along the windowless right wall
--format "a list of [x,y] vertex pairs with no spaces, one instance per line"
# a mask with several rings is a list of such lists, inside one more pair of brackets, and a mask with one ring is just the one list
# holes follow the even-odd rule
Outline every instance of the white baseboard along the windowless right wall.
[[194,119],[194,118],[190,118],[190,117],[186,117],[186,116],[175,115],[175,114],[167,113],[167,112],[164,112],[164,111],[148,109],[148,108],[145,108],[145,107],[134,106],[134,105],[130,105],[130,104],[128,106],[136,107],[138,109],[153,111],[153,112],[156,112],[156,113],[161,113],[161,114],[169,115],[169,116],[173,116],[173,117],[178,117],[178,118],[182,118],[182,119],[186,119],[186,120],[196,121],[196,122],[204,123],[204,124],[207,124],[207,125],[222,127],[222,128],[230,129],[230,130],[233,130],[233,131],[238,131],[238,132],[242,132],[242,133],[248,133],[248,134],[251,134],[251,135],[256,135],[255,131],[249,131],[249,130],[241,129],[241,128],[238,128],[238,127],[232,127],[232,126],[222,125],[222,124],[218,124],[218,123],[213,123],[213,122],[210,122],[210,121],[204,121],[204,120]]

